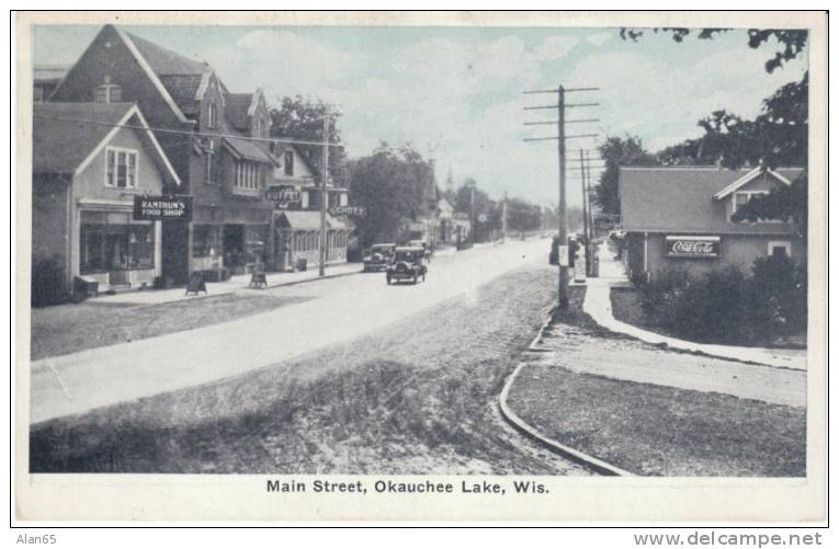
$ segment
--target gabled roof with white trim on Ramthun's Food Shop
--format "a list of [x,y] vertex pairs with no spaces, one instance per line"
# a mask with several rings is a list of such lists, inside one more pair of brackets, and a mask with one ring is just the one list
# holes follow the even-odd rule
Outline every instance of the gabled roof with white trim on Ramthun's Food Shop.
[[181,180],[135,103],[35,103],[33,173],[77,175],[123,126],[137,127],[175,184]]

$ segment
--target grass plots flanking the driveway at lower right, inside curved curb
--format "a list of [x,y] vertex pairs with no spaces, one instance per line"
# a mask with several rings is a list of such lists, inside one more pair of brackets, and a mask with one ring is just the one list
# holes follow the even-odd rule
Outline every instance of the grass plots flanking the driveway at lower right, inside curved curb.
[[[582,294],[554,316],[551,333],[571,350],[615,352],[581,312]],[[634,340],[621,352],[648,354],[667,368],[669,352]],[[555,356],[522,368],[508,400],[553,439],[643,476],[806,476],[805,409],[571,371],[562,365],[572,353]]]

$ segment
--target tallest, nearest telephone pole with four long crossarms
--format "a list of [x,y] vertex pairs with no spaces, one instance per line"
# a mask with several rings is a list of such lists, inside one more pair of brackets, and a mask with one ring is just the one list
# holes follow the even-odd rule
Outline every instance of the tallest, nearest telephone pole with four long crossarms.
[[525,111],[534,111],[537,108],[556,108],[557,110],[557,121],[554,122],[525,122],[525,126],[536,126],[536,125],[557,125],[557,136],[556,137],[535,137],[535,138],[529,138],[524,139],[525,141],[545,141],[545,140],[558,140],[558,147],[557,152],[559,156],[559,309],[568,309],[568,282],[569,282],[569,273],[568,273],[568,264],[569,264],[569,249],[568,249],[568,210],[567,205],[565,201],[565,187],[566,187],[566,148],[565,148],[565,141],[566,139],[578,139],[578,138],[586,138],[586,137],[597,137],[598,134],[580,134],[580,135],[566,135],[565,134],[565,125],[571,124],[571,123],[589,123],[589,122],[598,122],[597,118],[589,118],[589,119],[572,119],[572,121],[566,121],[565,119],[565,110],[569,107],[586,107],[586,106],[598,106],[599,103],[575,103],[575,104],[567,104],[565,102],[565,94],[569,92],[586,92],[586,91],[597,91],[600,88],[565,88],[563,85],[559,85],[555,90],[532,90],[532,91],[525,91],[525,94],[530,93],[549,93],[557,95],[557,104],[556,105],[544,105],[544,106],[525,106]]

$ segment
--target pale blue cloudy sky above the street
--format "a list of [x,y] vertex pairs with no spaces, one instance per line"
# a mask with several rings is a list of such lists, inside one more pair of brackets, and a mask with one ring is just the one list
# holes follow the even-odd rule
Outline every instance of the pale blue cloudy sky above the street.
[[[286,95],[320,99],[342,113],[339,127],[350,157],[381,141],[411,144],[433,157],[438,182],[473,178],[490,196],[556,204],[556,96],[524,90],[596,87],[569,93],[569,167],[580,148],[608,135],[639,136],[650,151],[702,135],[696,122],[718,108],[753,117],[761,101],[800,80],[806,56],[767,73],[773,44],[748,47],[746,31],[713,41],[648,32],[622,41],[619,28],[451,26],[125,26],[163,47],[204,60],[233,92],[261,88],[269,103]],[[71,66],[98,26],[34,30],[35,66]],[[597,170],[592,170],[597,178]],[[568,202],[580,203],[579,171],[569,171]]]

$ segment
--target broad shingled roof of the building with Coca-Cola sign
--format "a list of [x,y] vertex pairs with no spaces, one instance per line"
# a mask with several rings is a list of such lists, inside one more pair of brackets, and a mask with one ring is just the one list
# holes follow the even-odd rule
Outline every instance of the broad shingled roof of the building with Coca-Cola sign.
[[[621,220],[627,232],[755,232],[772,225],[733,224],[728,210],[714,196],[753,170],[723,170],[716,167],[622,167],[619,176]],[[800,168],[775,172],[793,181]],[[763,174],[766,176],[766,174]],[[750,175],[749,182],[756,178]]]

